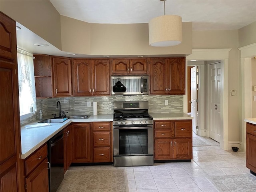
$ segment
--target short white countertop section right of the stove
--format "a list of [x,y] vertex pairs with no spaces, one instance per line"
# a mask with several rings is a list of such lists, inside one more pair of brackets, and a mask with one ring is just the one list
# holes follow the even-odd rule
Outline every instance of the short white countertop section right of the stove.
[[153,120],[184,120],[193,119],[191,115],[186,113],[149,113]]

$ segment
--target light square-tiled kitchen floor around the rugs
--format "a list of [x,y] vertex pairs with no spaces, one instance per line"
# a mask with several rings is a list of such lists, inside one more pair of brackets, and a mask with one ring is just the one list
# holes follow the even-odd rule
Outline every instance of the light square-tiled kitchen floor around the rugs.
[[[194,137],[198,137],[196,134]],[[203,138],[211,146],[193,147],[192,162],[156,163],[154,166],[118,167],[126,170],[129,192],[218,192],[207,176],[249,173],[246,153],[222,150],[219,143]],[[112,165],[70,169],[116,169]]]

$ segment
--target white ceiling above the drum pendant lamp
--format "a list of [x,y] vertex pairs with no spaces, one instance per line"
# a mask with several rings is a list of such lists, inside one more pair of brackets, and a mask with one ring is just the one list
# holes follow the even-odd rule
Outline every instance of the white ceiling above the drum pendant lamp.
[[[164,14],[160,0],[50,0],[63,16],[89,23],[148,23]],[[166,14],[193,30],[240,29],[256,21],[256,0],[166,0]]]

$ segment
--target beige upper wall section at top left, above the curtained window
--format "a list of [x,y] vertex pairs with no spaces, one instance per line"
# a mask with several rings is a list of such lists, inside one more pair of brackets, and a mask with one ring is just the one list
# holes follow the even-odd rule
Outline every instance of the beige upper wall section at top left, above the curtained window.
[[46,0],[0,0],[0,10],[61,50],[60,14]]

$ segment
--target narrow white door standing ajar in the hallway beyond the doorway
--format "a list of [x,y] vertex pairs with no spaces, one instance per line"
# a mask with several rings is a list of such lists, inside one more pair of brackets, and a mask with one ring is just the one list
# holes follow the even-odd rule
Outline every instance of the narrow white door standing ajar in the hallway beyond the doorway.
[[194,133],[198,134],[196,127],[198,126],[198,116],[197,116],[197,67],[191,68],[191,116],[192,119],[192,129]]

